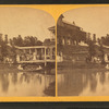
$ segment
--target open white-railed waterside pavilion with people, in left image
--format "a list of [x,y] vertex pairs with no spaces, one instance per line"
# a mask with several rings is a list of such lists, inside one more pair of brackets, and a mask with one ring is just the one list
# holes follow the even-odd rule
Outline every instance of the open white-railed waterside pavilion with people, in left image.
[[17,63],[55,63],[56,46],[15,47]]

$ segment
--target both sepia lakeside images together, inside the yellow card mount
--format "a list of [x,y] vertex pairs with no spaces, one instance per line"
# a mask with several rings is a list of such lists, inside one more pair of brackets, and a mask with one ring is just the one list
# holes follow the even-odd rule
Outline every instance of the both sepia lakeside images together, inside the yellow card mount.
[[[57,69],[56,69],[57,68]],[[108,96],[109,8],[0,8],[0,97]]]

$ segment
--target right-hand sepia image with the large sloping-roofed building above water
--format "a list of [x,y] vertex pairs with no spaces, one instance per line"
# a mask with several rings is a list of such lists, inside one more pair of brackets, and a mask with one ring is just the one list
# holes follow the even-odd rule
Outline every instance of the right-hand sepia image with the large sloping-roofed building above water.
[[109,8],[69,10],[57,22],[58,96],[109,96]]

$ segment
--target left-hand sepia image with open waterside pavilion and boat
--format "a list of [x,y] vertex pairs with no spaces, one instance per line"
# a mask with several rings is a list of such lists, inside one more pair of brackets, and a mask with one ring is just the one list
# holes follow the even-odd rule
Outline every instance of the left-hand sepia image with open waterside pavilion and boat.
[[0,97],[56,96],[53,17],[23,7],[0,14]]

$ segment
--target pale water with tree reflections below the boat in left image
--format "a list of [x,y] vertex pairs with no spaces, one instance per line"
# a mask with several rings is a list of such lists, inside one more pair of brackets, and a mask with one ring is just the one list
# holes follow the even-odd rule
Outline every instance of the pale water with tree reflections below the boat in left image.
[[55,75],[39,72],[0,71],[0,96],[55,96]]

